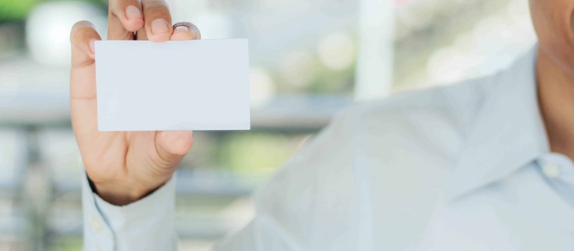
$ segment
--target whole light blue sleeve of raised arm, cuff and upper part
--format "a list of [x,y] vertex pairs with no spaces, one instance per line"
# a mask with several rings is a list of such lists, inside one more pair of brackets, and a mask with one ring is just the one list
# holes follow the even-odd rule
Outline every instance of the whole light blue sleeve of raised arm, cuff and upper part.
[[[364,213],[371,205],[362,199],[356,126],[339,115],[257,189],[253,220],[214,250],[369,250],[362,248],[372,218]],[[84,250],[177,249],[174,178],[127,206],[108,204],[83,180]]]

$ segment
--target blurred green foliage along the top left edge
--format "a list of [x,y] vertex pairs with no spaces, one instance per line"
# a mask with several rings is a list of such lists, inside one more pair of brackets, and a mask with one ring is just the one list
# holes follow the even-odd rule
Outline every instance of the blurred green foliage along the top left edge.
[[[24,21],[26,16],[38,3],[45,0],[0,0],[0,22],[5,21]],[[49,0],[54,1],[54,0]],[[61,1],[61,0],[59,0]],[[70,1],[70,0],[68,0]],[[106,0],[71,0],[92,2],[98,5],[104,5]]]

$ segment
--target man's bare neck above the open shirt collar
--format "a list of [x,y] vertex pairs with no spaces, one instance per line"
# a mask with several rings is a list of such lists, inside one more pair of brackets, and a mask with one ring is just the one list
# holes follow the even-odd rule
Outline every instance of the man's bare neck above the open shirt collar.
[[541,49],[536,75],[550,150],[574,160],[574,78]]

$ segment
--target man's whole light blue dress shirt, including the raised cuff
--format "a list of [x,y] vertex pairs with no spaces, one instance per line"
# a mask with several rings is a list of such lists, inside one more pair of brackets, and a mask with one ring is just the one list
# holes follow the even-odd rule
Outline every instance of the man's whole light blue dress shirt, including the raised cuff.
[[[549,151],[535,59],[343,111],[214,249],[574,250],[574,166]],[[118,207],[84,179],[84,249],[176,249],[174,184]]]

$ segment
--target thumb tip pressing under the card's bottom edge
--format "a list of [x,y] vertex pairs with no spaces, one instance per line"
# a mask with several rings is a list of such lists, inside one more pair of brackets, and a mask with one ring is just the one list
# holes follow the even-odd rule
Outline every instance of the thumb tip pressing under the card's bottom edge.
[[156,149],[162,160],[179,163],[193,146],[192,131],[160,131],[156,134]]

